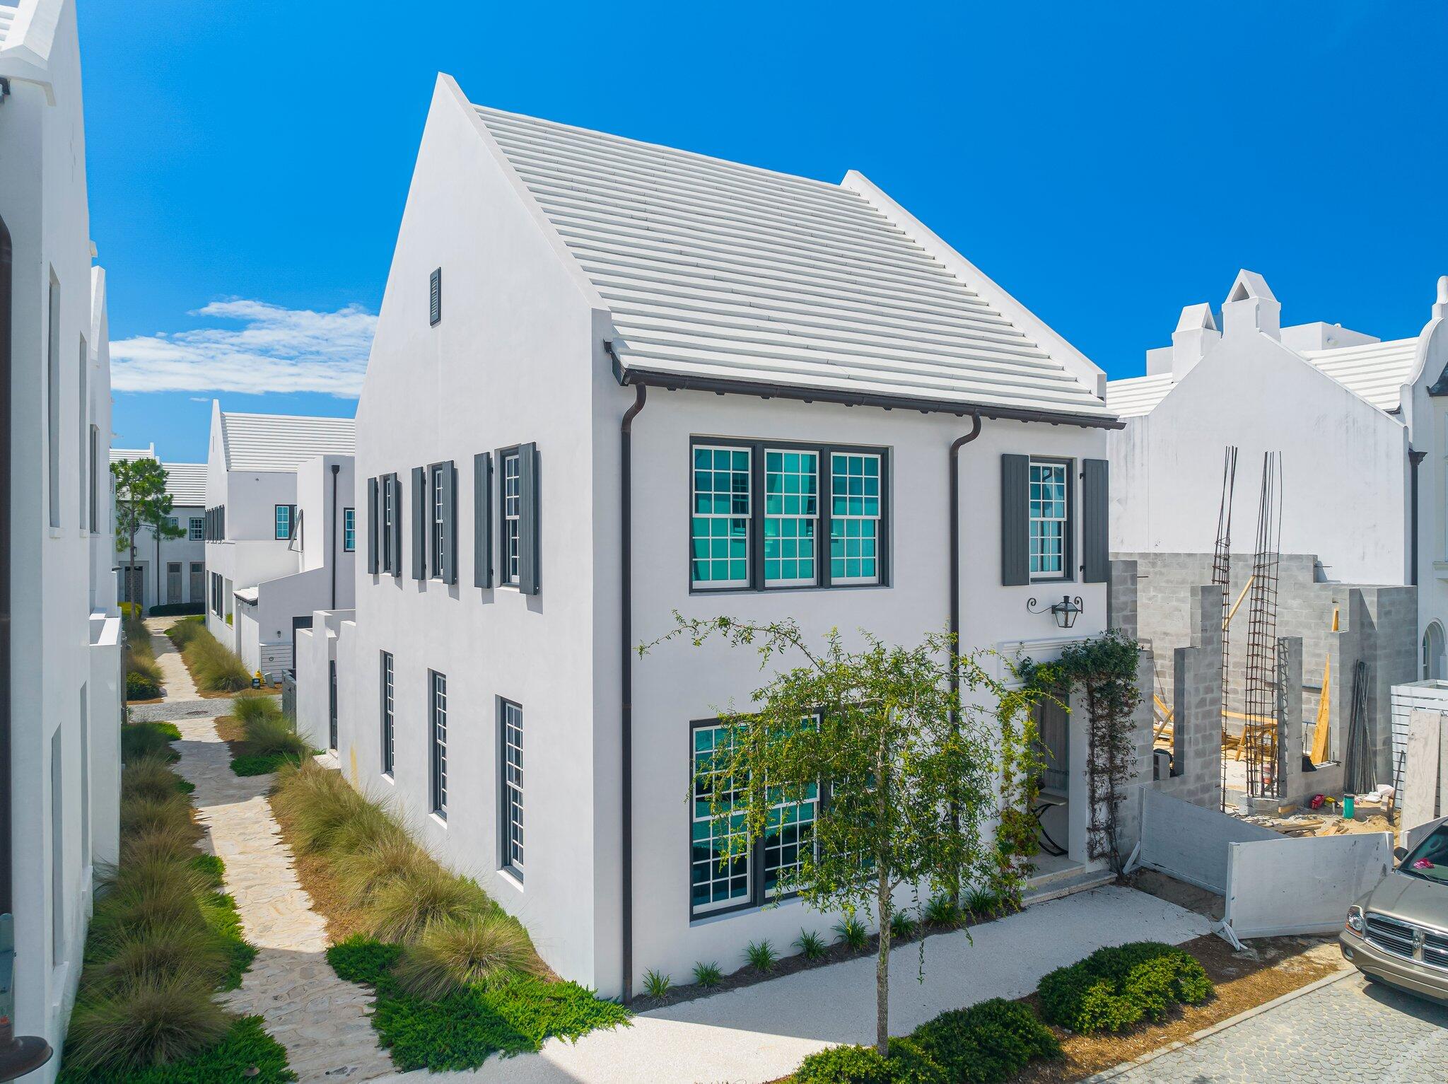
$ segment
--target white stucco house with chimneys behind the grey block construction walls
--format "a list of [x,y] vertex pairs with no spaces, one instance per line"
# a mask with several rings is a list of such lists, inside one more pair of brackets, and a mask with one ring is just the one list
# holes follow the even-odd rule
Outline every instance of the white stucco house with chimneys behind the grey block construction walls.
[[1448,622],[1448,278],[1423,329],[1380,340],[1341,324],[1283,327],[1242,271],[1219,313],[1192,304],[1147,373],[1111,381],[1114,553],[1211,553],[1222,449],[1238,447],[1235,551],[1250,553],[1263,453],[1281,453],[1284,554],[1321,582],[1416,585],[1425,676]]

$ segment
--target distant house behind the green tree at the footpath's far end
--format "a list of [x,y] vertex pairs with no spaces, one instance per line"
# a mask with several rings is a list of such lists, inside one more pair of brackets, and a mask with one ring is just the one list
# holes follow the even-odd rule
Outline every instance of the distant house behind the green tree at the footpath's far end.
[[[111,449],[110,462],[155,459],[156,446]],[[120,599],[152,606],[206,606],[206,463],[162,463],[171,495],[171,525],[180,537],[158,538],[149,527],[136,531],[136,563],[130,549],[116,553]]]

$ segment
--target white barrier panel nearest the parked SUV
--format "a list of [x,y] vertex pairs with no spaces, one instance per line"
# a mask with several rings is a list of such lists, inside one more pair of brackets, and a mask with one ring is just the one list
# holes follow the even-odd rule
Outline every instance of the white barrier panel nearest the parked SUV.
[[1348,906],[1393,868],[1393,834],[1318,835],[1228,844],[1226,912],[1218,933],[1332,933]]

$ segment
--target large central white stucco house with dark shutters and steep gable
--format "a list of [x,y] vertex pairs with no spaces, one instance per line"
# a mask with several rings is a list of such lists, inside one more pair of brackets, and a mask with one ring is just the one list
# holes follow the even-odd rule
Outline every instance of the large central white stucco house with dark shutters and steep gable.
[[[1037,659],[1099,632],[1103,391],[856,172],[473,107],[443,75],[358,407],[355,614],[298,653],[300,725],[326,725],[334,660],[353,784],[605,996],[827,929],[765,906],[812,803],[721,873],[685,800],[754,654],[631,648],[675,609],[851,643],[956,618],[967,647]],[[1069,871],[1083,750],[1061,731]]]

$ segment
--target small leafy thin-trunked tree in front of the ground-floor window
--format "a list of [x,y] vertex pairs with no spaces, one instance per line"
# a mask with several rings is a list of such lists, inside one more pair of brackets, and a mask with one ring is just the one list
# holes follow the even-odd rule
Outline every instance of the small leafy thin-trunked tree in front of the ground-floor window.
[[691,800],[708,795],[728,839],[727,865],[778,831],[780,803],[825,796],[814,845],[801,845],[798,870],[785,868],[775,890],[798,892],[818,910],[873,910],[876,1048],[885,1055],[895,893],[922,884],[950,893],[961,878],[989,876],[993,847],[982,832],[995,813],[995,761],[985,724],[995,706],[982,702],[1008,692],[975,657],[957,656],[948,635],[896,647],[866,632],[864,647],[851,651],[837,630],[812,647],[794,621],[675,621],[640,654],[676,637],[698,647],[717,635],[754,645],[762,669],[786,656],[798,661],[754,690],[750,711],[721,718]]

